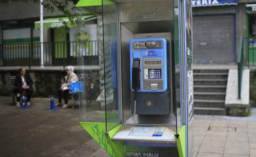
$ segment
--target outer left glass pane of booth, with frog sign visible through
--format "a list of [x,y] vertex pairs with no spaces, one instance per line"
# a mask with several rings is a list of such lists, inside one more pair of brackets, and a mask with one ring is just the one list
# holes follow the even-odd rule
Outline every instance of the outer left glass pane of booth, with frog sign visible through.
[[[87,10],[79,8],[82,13]],[[101,7],[99,9],[101,11]],[[78,58],[78,80],[82,82],[84,91],[79,93],[80,122],[95,122],[105,124],[105,93],[104,93],[104,65],[103,39],[99,38],[98,19],[93,24],[77,21],[78,27],[70,31],[77,40],[72,47],[76,49],[74,56]],[[91,44],[91,40],[95,43]],[[90,59],[97,58],[98,65],[90,65]],[[85,66],[87,65],[87,66]],[[105,126],[105,125],[103,125]],[[104,129],[105,130],[105,129]]]

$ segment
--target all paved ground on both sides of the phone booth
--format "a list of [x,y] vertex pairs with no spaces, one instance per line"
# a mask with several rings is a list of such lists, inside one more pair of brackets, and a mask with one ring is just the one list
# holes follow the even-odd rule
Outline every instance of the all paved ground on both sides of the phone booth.
[[[110,157],[79,125],[78,105],[46,111],[48,98],[18,110],[0,96],[0,157]],[[256,108],[250,117],[195,115],[195,157],[256,157]]]

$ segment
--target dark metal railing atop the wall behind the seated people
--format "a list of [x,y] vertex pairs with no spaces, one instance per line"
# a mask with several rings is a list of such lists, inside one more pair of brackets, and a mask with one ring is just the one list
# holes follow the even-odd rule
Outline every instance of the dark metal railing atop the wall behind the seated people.
[[0,44],[0,66],[40,66],[41,45],[44,66],[98,65],[97,41],[68,41]]

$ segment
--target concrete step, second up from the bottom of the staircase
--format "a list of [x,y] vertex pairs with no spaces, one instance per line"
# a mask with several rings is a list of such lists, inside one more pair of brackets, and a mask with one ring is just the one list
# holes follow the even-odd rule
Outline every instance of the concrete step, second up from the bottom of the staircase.
[[194,107],[224,108],[225,100],[194,100]]

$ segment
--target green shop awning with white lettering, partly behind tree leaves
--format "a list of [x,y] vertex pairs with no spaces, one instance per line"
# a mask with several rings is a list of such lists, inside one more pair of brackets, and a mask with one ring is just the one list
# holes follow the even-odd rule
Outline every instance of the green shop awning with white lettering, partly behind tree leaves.
[[[89,21],[89,20],[94,20],[96,19],[95,15],[85,15],[82,16],[82,19],[84,21]],[[48,18],[43,20],[43,28],[59,28],[64,26],[64,21],[66,22],[67,27],[74,27],[74,25],[71,24],[69,21],[69,18],[67,17],[62,17],[62,18]],[[34,22],[34,28],[35,29],[40,29],[40,21]]]

